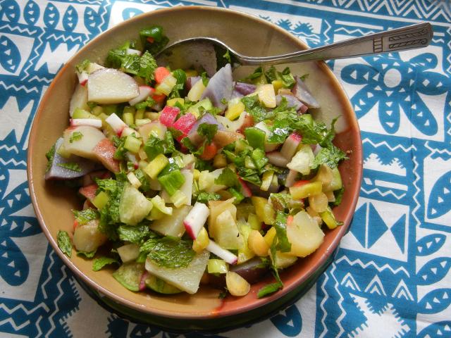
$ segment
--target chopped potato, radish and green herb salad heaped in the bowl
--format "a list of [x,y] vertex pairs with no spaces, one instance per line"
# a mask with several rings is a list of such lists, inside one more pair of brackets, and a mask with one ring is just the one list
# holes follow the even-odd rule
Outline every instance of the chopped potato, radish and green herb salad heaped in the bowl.
[[[272,273],[263,297],[283,288],[279,270],[321,246],[340,225],[343,187],[334,123],[289,68],[257,68],[235,82],[228,53],[211,77],[157,65],[168,43],[140,32],[104,65],[76,66],[70,126],[47,153],[46,180],[78,188],[67,256],[106,265],[133,292],[195,294],[199,284],[245,296]],[[80,203],[81,205],[81,203]]]

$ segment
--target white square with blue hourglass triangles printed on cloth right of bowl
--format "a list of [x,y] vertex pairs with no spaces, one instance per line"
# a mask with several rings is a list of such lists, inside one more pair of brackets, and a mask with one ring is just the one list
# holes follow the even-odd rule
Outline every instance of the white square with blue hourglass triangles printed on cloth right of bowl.
[[408,206],[360,197],[350,232],[340,246],[405,262],[408,215]]

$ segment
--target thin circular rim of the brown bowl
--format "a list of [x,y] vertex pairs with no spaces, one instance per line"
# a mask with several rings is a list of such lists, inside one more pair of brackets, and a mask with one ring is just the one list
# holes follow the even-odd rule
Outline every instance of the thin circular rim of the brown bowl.
[[[321,256],[321,258],[319,259],[319,261],[317,261],[314,265],[312,265],[311,268],[309,268],[309,270],[307,270],[302,277],[297,279],[295,282],[290,284],[288,287],[284,287],[283,289],[280,289],[275,294],[272,294],[271,296],[267,296],[267,297],[264,297],[261,299],[255,299],[255,301],[253,301],[252,303],[249,303],[246,306],[242,306],[239,309],[229,309],[228,311],[215,310],[215,311],[211,311],[209,314],[177,313],[176,311],[166,311],[166,310],[161,310],[161,309],[143,307],[137,303],[134,303],[128,299],[124,299],[121,296],[114,294],[113,292],[109,291],[108,289],[105,289],[100,284],[97,284],[97,282],[94,282],[87,275],[82,273],[82,271],[78,268],[78,266],[75,265],[58,248],[58,244],[56,243],[56,240],[51,236],[51,233],[45,224],[44,218],[42,217],[42,213],[39,210],[39,207],[37,204],[37,196],[35,194],[35,189],[34,189],[34,177],[32,175],[33,163],[32,163],[32,155],[31,154],[34,149],[34,144],[35,144],[34,141],[35,141],[37,129],[38,129],[37,121],[39,121],[39,119],[41,118],[42,111],[44,110],[43,107],[45,106],[45,103],[46,103],[47,99],[49,98],[50,93],[52,92],[51,89],[56,85],[58,78],[61,77],[62,74],[65,72],[65,70],[72,65],[73,59],[76,56],[78,56],[78,54],[82,53],[86,49],[89,49],[91,47],[91,45],[94,44],[95,42],[97,42],[99,39],[103,39],[104,35],[106,35],[106,33],[111,34],[111,32],[114,32],[116,30],[122,30],[123,27],[130,25],[130,23],[134,22],[135,20],[142,20],[142,18],[144,16],[148,16],[148,17],[152,18],[152,15],[154,15],[154,13],[161,13],[161,12],[171,13],[173,11],[230,12],[233,15],[242,16],[246,20],[251,20],[251,21],[257,22],[259,24],[264,24],[264,25],[271,27],[272,30],[276,30],[280,34],[285,35],[285,37],[287,37],[287,39],[290,42],[292,42],[293,45],[299,46],[300,49],[308,49],[309,48],[307,46],[307,44],[305,44],[302,40],[295,37],[295,35],[292,35],[290,32],[283,30],[283,28],[278,27],[278,25],[270,23],[264,19],[261,19],[261,18],[257,17],[256,15],[244,13],[244,12],[233,10],[230,8],[210,7],[210,6],[175,6],[175,7],[169,7],[169,8],[159,8],[156,11],[142,13],[142,14],[136,15],[135,17],[130,18],[128,20],[124,20],[123,22],[118,23],[117,25],[105,30],[104,32],[101,32],[99,35],[97,35],[97,37],[94,37],[94,39],[90,40],[87,44],[85,44],[85,46],[82,46],[82,48],[79,51],[77,51],[77,53],[75,53],[71,58],[69,58],[68,61],[66,61],[66,63],[63,65],[63,67],[60,70],[58,70],[58,73],[56,74],[56,76],[52,80],[51,84],[49,85],[47,91],[45,92],[44,96],[42,97],[42,99],[39,103],[39,106],[37,108],[37,111],[35,113],[35,117],[33,118],[32,127],[30,130],[30,137],[29,137],[29,141],[28,141],[28,149],[27,149],[27,181],[28,181],[28,186],[30,189],[30,198],[32,200],[32,206],[35,209],[37,220],[42,229],[42,232],[44,232],[44,234],[47,237],[47,239],[49,240],[49,243],[51,244],[52,248],[54,249],[54,251],[56,251],[56,254],[58,255],[59,258],[61,258],[63,263],[66,266],[68,266],[68,268],[70,268],[70,270],[72,270],[72,272],[75,273],[75,275],[78,275],[90,287],[97,290],[97,292],[99,292],[100,294],[103,294],[105,296],[108,296],[113,301],[122,303],[123,305],[133,308],[137,311],[141,311],[141,312],[144,311],[148,315],[157,315],[157,316],[163,316],[166,318],[175,318],[175,319],[180,319],[180,320],[209,320],[209,319],[214,319],[214,318],[224,318],[224,317],[231,316],[231,315],[245,313],[246,311],[254,310],[256,308],[261,308],[262,306],[266,305],[267,303],[270,303],[271,301],[278,299],[281,296],[284,296],[288,292],[291,292],[293,289],[295,289],[300,284],[302,284],[302,282],[307,280],[307,278],[309,276],[311,276],[314,273],[314,271],[317,268],[319,268],[319,266],[321,266],[337,248],[338,244],[340,243],[340,240],[342,239],[344,234],[347,232],[347,228],[350,226],[352,216],[354,215],[354,211],[357,206],[357,200],[359,199],[359,189],[362,186],[362,175],[363,175],[362,137],[360,134],[359,125],[357,123],[357,117],[355,117],[355,114],[352,114],[352,116],[350,116],[350,119],[348,121],[350,124],[350,127],[348,127],[348,129],[354,128],[357,131],[359,146],[357,149],[355,149],[353,156],[359,156],[359,158],[358,158],[359,167],[358,167],[357,173],[355,173],[353,180],[357,180],[359,182],[359,184],[356,184],[354,191],[352,191],[353,199],[352,199],[350,208],[348,208],[348,211],[345,214],[345,218],[343,219],[344,224],[340,227],[340,229],[338,230],[338,234],[335,235],[335,238],[332,240],[332,242],[328,246],[326,253],[324,253]],[[338,78],[333,73],[333,71],[330,70],[330,68],[328,68],[326,63],[324,63],[323,61],[315,61],[315,62],[317,65],[319,65],[321,70],[323,72],[325,72],[326,75],[330,78],[330,80],[331,80],[330,85],[335,89],[336,92],[338,92],[338,96],[342,96],[345,99],[345,100],[343,100],[343,102],[345,104],[345,108],[347,109],[347,111],[354,113],[354,109],[352,107],[350,99],[347,96],[345,89],[342,87],[342,84],[340,83]],[[39,177],[39,179],[42,179],[42,177]]]

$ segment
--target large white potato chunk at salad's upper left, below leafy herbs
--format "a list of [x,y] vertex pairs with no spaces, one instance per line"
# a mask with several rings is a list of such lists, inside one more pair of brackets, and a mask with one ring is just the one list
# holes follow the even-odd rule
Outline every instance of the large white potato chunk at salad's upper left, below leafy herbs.
[[120,70],[102,68],[89,74],[87,99],[98,104],[119,104],[140,94],[136,81]]

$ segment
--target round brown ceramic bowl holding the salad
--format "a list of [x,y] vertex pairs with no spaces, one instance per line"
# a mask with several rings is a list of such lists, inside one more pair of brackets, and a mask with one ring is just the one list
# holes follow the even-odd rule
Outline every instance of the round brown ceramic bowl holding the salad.
[[[106,296],[110,302],[142,315],[188,320],[195,326],[207,319],[226,319],[231,315],[256,311],[283,299],[283,296],[293,292],[328,261],[350,225],[357,203],[362,180],[362,142],[350,101],[327,65],[323,62],[290,65],[294,74],[309,74],[307,85],[322,107],[315,112],[317,118],[330,123],[330,120],[341,115],[335,144],[347,151],[350,159],[340,165],[345,194],[342,204],[334,209],[336,217],[344,225],[333,231],[326,231],[324,243],[316,252],[299,259],[296,265],[283,271],[285,287],[272,296],[257,299],[257,291],[264,284],[272,282],[271,277],[252,285],[247,296],[228,296],[224,300],[218,299],[218,291],[209,287],[202,287],[195,295],[134,293],[113,279],[112,270],[93,272],[91,261],[75,255],[72,258],[66,257],[58,249],[56,234],[58,230],[72,231],[71,209],[80,208],[81,205],[74,189],[44,181],[47,163],[44,155],[68,125],[69,100],[76,84],[74,66],[86,58],[102,63],[109,49],[126,40],[137,39],[140,29],[155,24],[163,26],[171,41],[197,36],[216,37],[249,56],[283,54],[306,49],[307,46],[280,27],[237,11],[197,6],[161,9],[127,20],[89,42],[56,75],[36,113],[28,147],[28,182],[39,224],[58,256],[75,275],[94,291]],[[235,77],[241,78],[249,74],[250,70],[239,68]]]

